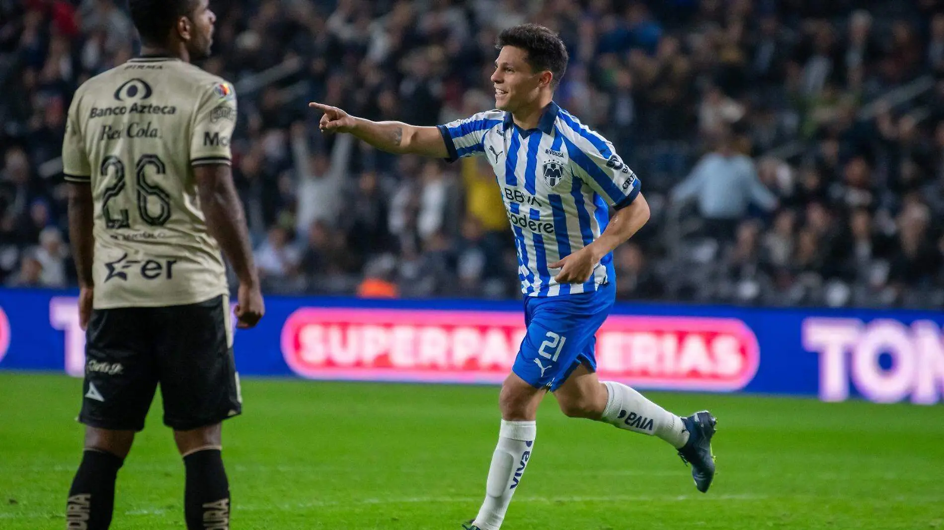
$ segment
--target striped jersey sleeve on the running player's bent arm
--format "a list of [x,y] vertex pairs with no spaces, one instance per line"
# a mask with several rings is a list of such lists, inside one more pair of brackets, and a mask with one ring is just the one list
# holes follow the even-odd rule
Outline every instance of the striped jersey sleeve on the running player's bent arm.
[[616,155],[610,141],[582,127],[569,135],[565,144],[575,173],[607,204],[616,209],[632,204],[642,189],[642,182]]

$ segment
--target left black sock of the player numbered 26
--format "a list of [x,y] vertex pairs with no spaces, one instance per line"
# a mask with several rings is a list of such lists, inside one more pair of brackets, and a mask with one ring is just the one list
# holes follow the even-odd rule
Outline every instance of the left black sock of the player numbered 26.
[[115,502],[115,478],[125,462],[103,451],[85,450],[66,503],[68,530],[108,530]]

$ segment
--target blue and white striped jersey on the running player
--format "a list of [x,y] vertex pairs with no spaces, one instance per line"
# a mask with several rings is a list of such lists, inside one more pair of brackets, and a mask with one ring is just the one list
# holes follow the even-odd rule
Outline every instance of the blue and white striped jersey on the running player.
[[[582,285],[554,281],[548,264],[594,240],[609,221],[608,207],[626,207],[641,183],[613,144],[551,102],[537,128],[521,130],[511,112],[489,110],[439,125],[449,159],[486,157],[498,179],[518,253],[518,277],[527,296],[597,290],[615,281],[604,257]],[[608,273],[609,271],[609,273]]]

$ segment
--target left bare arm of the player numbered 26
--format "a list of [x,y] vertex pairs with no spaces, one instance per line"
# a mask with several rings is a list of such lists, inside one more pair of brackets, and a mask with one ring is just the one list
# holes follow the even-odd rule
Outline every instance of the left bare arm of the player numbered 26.
[[78,318],[82,329],[86,328],[92,317],[92,263],[95,249],[93,213],[92,186],[69,183],[69,239],[72,241],[72,255],[78,273]]

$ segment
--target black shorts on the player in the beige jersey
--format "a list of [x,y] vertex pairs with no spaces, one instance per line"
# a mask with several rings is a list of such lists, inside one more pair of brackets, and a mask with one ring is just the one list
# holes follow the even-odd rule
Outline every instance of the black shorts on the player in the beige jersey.
[[225,296],[190,306],[94,310],[78,421],[140,431],[159,383],[164,424],[175,430],[240,414],[228,314]]

